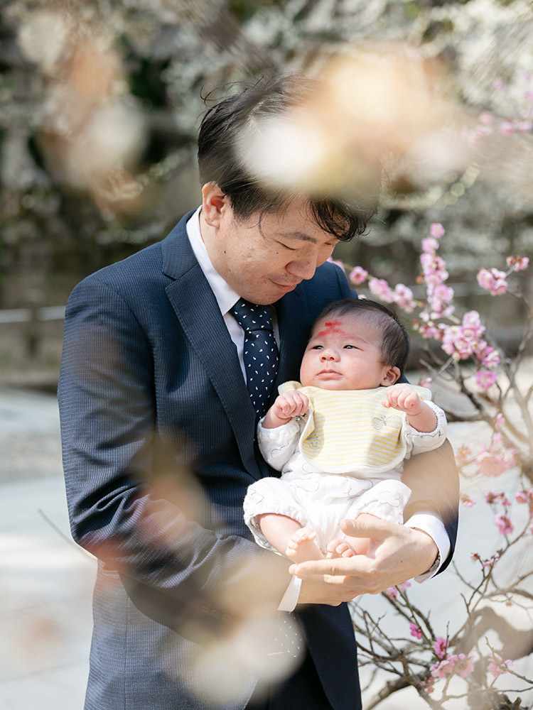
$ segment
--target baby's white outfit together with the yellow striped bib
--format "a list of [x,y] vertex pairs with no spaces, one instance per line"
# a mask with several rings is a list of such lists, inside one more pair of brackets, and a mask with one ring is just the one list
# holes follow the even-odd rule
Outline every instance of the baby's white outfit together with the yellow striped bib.
[[446,417],[428,401],[431,392],[415,388],[437,418],[434,431],[426,433],[409,426],[404,413],[383,406],[382,387],[332,391],[286,382],[279,393],[294,389],[307,395],[307,415],[274,429],[262,422],[257,427],[265,461],[281,471],[281,478],[249,486],[244,498],[244,520],[257,544],[274,550],[257,525],[262,513],[287,515],[312,528],[323,552],[343,518],[364,512],[402,524],[411,495],[400,480],[404,459],[446,439]]

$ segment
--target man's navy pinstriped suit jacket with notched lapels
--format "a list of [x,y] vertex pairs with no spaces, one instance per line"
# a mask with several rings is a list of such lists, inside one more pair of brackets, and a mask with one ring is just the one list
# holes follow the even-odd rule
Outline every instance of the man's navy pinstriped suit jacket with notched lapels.
[[[235,345],[190,248],[189,217],[87,277],[68,302],[59,386],[68,510],[73,537],[99,557],[86,710],[204,708],[180,679],[201,643],[182,635],[183,619],[216,624],[210,591],[222,579],[238,584],[232,565],[258,550],[242,502],[272,471],[257,452]],[[318,313],[348,295],[343,273],[326,263],[276,304],[276,386],[298,378]],[[200,481],[208,504],[195,520],[180,501],[149,492],[156,439],[171,472],[186,459]],[[453,516],[446,525],[453,549]],[[347,606],[313,605],[301,619],[330,704],[359,708]]]

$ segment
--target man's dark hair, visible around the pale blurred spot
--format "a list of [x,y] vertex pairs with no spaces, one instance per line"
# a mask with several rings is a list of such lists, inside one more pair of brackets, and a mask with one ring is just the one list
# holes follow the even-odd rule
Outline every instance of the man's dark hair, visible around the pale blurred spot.
[[[237,141],[250,121],[279,116],[297,106],[316,87],[300,75],[262,79],[218,102],[203,117],[198,135],[198,167],[202,185],[216,182],[230,197],[237,218],[255,212],[278,212],[296,194],[269,190],[242,165]],[[340,241],[365,233],[372,211],[336,199],[308,200],[316,224]]]

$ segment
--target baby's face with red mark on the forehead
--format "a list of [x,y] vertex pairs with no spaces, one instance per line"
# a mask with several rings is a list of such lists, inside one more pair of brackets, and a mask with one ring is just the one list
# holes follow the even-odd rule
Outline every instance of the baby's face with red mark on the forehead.
[[319,321],[300,368],[303,386],[325,390],[366,390],[392,385],[398,368],[383,364],[382,333],[364,318],[332,314]]

